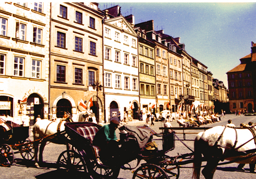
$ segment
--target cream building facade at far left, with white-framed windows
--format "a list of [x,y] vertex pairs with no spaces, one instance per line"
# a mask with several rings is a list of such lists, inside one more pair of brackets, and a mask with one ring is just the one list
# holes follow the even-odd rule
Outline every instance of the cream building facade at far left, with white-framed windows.
[[48,118],[50,3],[2,2],[0,116],[33,125]]

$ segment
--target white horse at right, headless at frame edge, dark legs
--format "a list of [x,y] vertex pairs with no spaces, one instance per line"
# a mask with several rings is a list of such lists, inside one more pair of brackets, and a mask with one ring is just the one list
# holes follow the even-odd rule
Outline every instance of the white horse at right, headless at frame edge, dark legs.
[[248,128],[215,126],[200,132],[194,140],[192,178],[200,178],[202,155],[207,162],[202,174],[206,179],[212,179],[218,162],[224,159],[236,163],[255,163],[255,149],[254,135]]

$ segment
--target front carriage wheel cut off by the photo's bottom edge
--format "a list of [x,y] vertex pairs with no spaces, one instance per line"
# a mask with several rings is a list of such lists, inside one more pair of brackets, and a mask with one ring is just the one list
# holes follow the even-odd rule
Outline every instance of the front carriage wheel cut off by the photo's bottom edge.
[[166,178],[166,172],[160,166],[154,164],[143,164],[133,173],[133,179],[136,178]]

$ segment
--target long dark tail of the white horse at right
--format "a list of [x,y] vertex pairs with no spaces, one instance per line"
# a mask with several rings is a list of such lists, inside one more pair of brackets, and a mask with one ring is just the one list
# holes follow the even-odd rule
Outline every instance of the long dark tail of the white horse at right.
[[194,162],[193,162],[193,179],[200,178],[201,164],[202,164],[202,153],[200,150],[200,138],[203,132],[200,132],[194,140]]

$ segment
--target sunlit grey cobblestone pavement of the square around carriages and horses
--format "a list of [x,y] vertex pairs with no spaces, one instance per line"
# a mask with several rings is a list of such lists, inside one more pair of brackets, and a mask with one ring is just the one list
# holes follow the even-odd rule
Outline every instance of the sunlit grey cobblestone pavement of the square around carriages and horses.
[[[216,122],[214,124],[208,124],[203,126],[217,126],[217,125],[225,125],[227,124],[227,120],[232,119],[233,124],[239,126],[240,123],[248,124],[249,121],[256,122],[256,116],[236,116],[236,115],[225,115],[224,118],[220,122]],[[129,122],[129,125],[143,125],[145,122]],[[176,121],[171,122],[173,127],[178,127]],[[155,122],[154,126],[151,126],[156,132],[161,132],[159,127],[163,126],[162,122]],[[193,131],[194,132],[194,131]],[[199,131],[198,131],[199,132]],[[117,132],[118,133],[118,132]],[[118,134],[117,134],[118,135]],[[183,138],[182,134],[178,134],[180,139]],[[186,135],[186,139],[194,140],[196,134]],[[32,133],[31,133],[32,139]],[[193,141],[184,141],[187,146],[189,146],[192,150]],[[161,141],[157,141],[159,144],[159,149],[161,149]],[[64,145],[57,145],[53,143],[47,144],[44,150],[44,165],[41,168],[35,168],[33,166],[33,161],[25,162],[19,153],[15,154],[15,162],[10,167],[3,167],[0,166],[0,178],[70,178],[72,176],[67,176],[65,173],[57,171],[57,158],[59,157],[60,153],[66,150],[66,146]],[[14,150],[17,152],[17,150]],[[176,156],[182,155],[185,153],[191,153],[180,141],[175,141],[175,149],[167,153],[169,156]],[[142,161],[143,162],[143,161]],[[131,165],[135,165],[135,161],[131,163]],[[214,174],[214,178],[256,178],[256,174],[249,173],[249,165],[245,165],[245,172],[236,171],[237,163],[230,163],[228,165],[218,165],[217,171]],[[182,165],[185,167],[191,167],[192,164]],[[192,176],[192,169],[191,168],[181,168],[179,178],[191,178]],[[126,179],[132,178],[132,171],[129,170],[120,170],[120,175],[118,176],[119,179]],[[72,177],[74,178],[74,177]],[[201,178],[204,178],[201,174]]]

